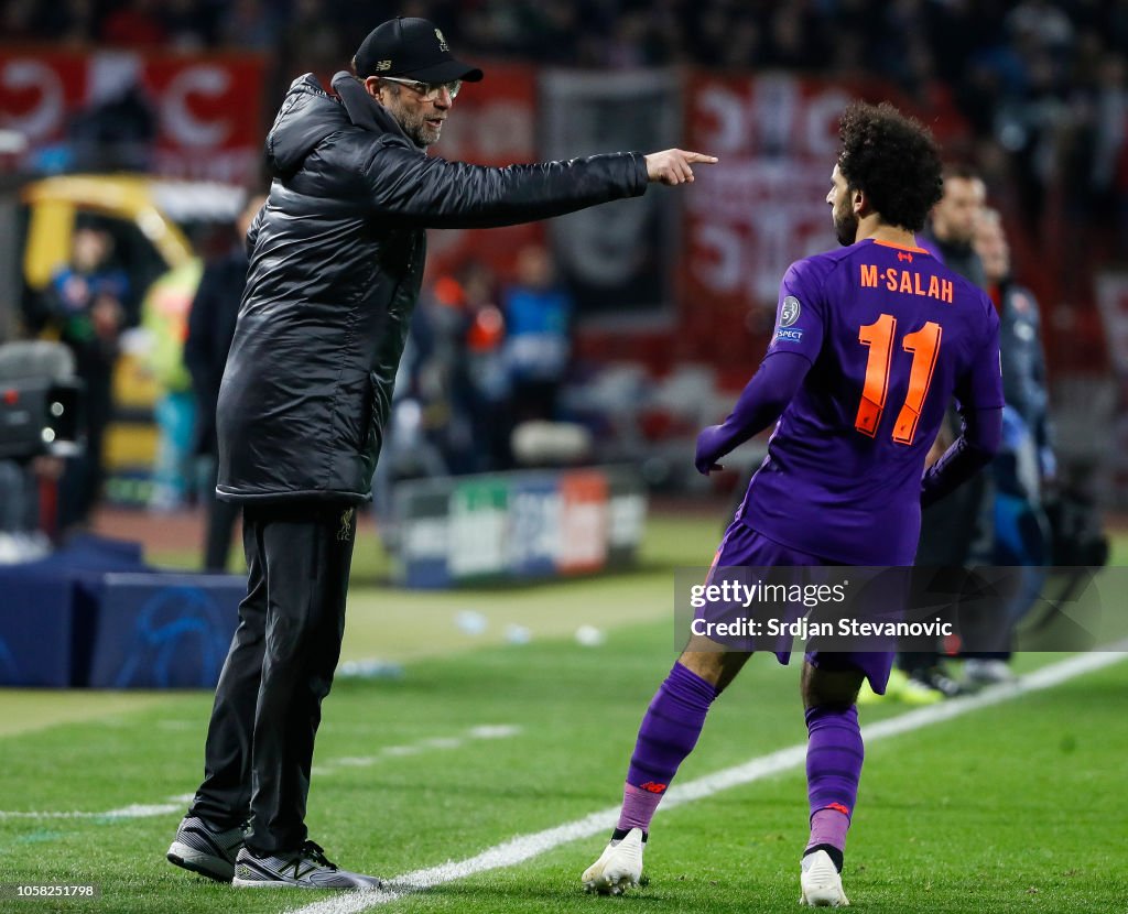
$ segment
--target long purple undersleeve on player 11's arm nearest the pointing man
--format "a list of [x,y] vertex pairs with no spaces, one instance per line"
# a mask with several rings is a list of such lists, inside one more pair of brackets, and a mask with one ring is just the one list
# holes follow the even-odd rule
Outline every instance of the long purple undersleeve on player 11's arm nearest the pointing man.
[[778,419],[810,369],[805,353],[769,350],[729,418],[704,428],[697,436],[694,460],[697,471],[708,476],[722,456]]

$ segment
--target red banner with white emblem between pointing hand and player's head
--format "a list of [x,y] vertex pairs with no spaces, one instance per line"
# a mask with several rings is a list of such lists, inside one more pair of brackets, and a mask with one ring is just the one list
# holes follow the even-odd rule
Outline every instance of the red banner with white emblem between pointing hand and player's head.
[[[751,366],[787,267],[836,247],[826,195],[843,108],[858,97],[913,106],[880,83],[785,73],[695,73],[686,86],[687,148],[721,161],[702,169],[686,194],[680,354]],[[941,139],[960,131],[942,104],[927,121]],[[699,319],[703,310],[708,321]]]

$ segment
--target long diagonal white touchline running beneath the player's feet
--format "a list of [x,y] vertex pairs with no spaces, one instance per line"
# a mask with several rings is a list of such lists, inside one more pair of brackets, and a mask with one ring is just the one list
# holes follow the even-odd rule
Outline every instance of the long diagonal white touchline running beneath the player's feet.
[[[1023,676],[1013,685],[993,686],[976,695],[951,699],[940,704],[931,704],[926,708],[919,708],[905,715],[888,718],[870,727],[864,727],[862,736],[866,743],[874,743],[891,736],[918,730],[933,724],[940,724],[944,720],[962,717],[971,711],[978,711],[980,708],[989,708],[993,704],[999,704],[1020,695],[1050,689],[1075,676],[1092,673],[1119,663],[1125,658],[1125,651],[1128,651],[1128,641],[1120,641],[1110,646],[1104,653],[1083,654],[1054,664],[1052,666],[1043,667]],[[698,778],[684,784],[676,784],[670,788],[670,792],[662,800],[662,808],[669,809],[675,806],[681,806],[682,804],[710,797],[722,790],[728,790],[731,787],[739,787],[773,774],[781,774],[791,769],[799,767],[805,760],[805,743],[788,746],[778,752],[752,758],[744,764],[723,769],[722,771],[706,774],[704,778]],[[592,813],[589,816],[565,823],[564,825],[557,825],[555,828],[547,828],[530,835],[519,835],[510,841],[488,848],[467,860],[450,860],[437,867],[429,867],[428,869],[415,870],[414,872],[398,876],[389,880],[385,889],[364,889],[335,895],[325,900],[291,908],[290,914],[361,914],[361,912],[378,905],[389,904],[412,893],[433,888],[444,882],[453,882],[487,870],[513,867],[554,850],[561,844],[606,833],[611,827],[611,823],[615,822],[618,814],[618,806],[600,809],[598,813]]]

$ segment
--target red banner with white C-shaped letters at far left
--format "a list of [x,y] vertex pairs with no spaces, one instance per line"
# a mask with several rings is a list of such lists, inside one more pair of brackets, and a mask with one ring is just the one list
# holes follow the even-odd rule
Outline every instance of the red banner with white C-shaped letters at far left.
[[3,50],[0,128],[25,136],[33,168],[54,149],[82,169],[96,141],[129,145],[153,174],[246,184],[262,156],[263,71],[250,54]]

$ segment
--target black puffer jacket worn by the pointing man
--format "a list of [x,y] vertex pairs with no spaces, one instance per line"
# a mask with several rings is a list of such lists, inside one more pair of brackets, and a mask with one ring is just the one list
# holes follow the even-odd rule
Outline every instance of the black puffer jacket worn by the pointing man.
[[218,409],[232,502],[368,498],[428,228],[509,225],[646,189],[634,152],[482,168],[416,148],[347,73],[294,81]]

